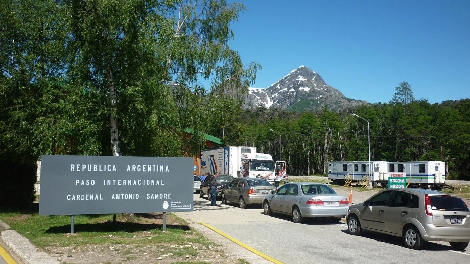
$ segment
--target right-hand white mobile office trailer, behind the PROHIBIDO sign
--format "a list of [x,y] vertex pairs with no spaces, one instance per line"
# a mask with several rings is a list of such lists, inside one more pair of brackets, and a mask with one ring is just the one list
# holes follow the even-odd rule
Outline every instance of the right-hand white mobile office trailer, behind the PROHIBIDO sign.
[[389,162],[388,171],[406,173],[408,187],[442,189],[445,183],[443,161]]

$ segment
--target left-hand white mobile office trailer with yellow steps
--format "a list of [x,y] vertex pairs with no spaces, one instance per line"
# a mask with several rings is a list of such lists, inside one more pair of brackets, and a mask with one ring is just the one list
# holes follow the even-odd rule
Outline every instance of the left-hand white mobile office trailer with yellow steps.
[[[349,177],[351,183],[361,182],[367,175],[373,186],[386,186],[388,181],[388,161],[334,161],[328,162],[328,180],[333,184],[344,185]],[[384,185],[385,184],[385,185]]]

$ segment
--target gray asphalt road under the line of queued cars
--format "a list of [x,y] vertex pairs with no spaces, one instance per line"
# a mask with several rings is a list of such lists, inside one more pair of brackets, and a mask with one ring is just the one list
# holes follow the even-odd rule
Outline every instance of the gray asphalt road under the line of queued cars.
[[[336,190],[349,196],[347,188]],[[378,190],[356,191],[353,201],[362,202],[375,191]],[[466,264],[470,257],[470,248],[464,252],[453,251],[447,242],[426,243],[422,250],[411,250],[397,237],[370,232],[350,235],[345,223],[307,220],[295,224],[287,215],[265,215],[261,205],[248,209],[240,209],[237,204],[212,207],[208,200],[199,198],[199,194],[194,194],[193,212],[177,214],[193,223],[200,221],[211,225],[249,247],[289,264],[410,261]]]

